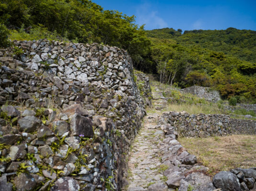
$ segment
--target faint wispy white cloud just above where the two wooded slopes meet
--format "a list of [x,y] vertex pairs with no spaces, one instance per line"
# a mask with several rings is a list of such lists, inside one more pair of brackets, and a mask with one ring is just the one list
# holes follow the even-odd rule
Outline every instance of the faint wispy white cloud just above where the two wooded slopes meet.
[[137,8],[137,24],[146,24],[147,30],[168,27],[168,24],[157,15],[157,11],[151,10],[150,4],[142,4]]

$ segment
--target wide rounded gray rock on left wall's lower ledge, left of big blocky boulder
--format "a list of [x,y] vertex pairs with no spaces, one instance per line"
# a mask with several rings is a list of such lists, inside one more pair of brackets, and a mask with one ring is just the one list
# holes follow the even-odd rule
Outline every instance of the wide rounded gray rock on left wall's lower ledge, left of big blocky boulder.
[[34,116],[26,116],[21,118],[18,123],[23,131],[30,133],[34,132],[38,127],[40,127],[42,121]]

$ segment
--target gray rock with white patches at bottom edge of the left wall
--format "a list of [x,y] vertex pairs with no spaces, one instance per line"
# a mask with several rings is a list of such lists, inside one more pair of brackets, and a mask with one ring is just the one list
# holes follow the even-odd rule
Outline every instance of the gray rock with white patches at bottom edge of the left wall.
[[71,177],[59,178],[54,182],[54,186],[51,187],[50,191],[79,191],[80,186],[77,180]]

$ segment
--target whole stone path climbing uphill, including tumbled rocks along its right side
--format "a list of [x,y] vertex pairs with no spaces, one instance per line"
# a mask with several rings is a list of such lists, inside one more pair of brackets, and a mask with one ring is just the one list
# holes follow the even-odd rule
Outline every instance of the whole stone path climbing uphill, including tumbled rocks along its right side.
[[[151,114],[144,117],[144,124],[131,148],[128,161],[129,184],[122,191],[213,191],[206,167],[197,164],[176,140],[177,132],[170,124],[157,124],[161,110],[168,106],[163,89],[152,92]],[[159,114],[159,115],[158,115]]]

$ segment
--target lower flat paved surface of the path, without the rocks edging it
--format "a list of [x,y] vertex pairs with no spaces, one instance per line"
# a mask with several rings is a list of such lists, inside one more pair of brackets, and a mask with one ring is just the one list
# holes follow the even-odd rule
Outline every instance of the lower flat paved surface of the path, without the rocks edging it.
[[[164,183],[165,176],[160,173],[160,151],[163,141],[163,130],[156,128],[157,115],[145,117],[144,126],[134,140],[133,148],[128,161],[129,186],[128,191],[156,191],[155,186],[161,191],[167,191]],[[155,184],[157,183],[157,184]]]

